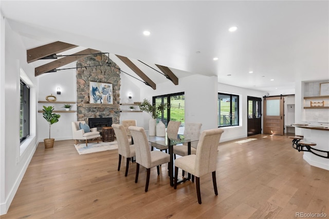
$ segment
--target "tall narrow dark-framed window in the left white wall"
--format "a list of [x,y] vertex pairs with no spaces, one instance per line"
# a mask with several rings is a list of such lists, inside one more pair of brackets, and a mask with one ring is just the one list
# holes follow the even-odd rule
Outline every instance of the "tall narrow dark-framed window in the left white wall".
[[21,80],[20,141],[30,135],[30,88]]

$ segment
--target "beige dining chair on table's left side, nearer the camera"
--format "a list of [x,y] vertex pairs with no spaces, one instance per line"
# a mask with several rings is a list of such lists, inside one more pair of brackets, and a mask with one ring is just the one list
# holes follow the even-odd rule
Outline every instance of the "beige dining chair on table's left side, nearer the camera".
[[134,138],[136,145],[136,177],[135,183],[138,181],[139,165],[147,169],[147,179],[145,184],[145,192],[149,189],[150,172],[152,167],[157,167],[158,175],[160,175],[159,166],[163,163],[170,162],[170,155],[161,151],[151,151],[149,140],[143,127],[130,126],[128,128]]

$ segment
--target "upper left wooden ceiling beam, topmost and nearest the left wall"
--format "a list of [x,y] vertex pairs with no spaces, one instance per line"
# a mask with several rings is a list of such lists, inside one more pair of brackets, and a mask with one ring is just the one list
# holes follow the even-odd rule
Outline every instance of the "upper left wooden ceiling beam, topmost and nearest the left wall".
[[72,48],[78,47],[77,45],[63,43],[60,41],[49,43],[47,45],[35,47],[33,49],[26,50],[27,63],[34,62],[44,57],[63,52]]

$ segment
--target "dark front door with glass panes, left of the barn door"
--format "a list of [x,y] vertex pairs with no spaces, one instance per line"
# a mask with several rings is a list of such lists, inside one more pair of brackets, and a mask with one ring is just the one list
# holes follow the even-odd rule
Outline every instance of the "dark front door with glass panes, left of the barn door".
[[248,96],[247,136],[262,133],[262,99]]

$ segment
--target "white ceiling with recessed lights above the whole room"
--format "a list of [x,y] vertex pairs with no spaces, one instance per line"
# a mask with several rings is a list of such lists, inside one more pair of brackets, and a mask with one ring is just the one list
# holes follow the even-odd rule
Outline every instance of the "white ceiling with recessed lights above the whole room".
[[27,49],[62,41],[109,52],[131,72],[119,54],[155,83],[168,79],[137,60],[168,66],[178,78],[216,75],[220,83],[264,92],[329,79],[328,1],[1,1],[0,7]]

